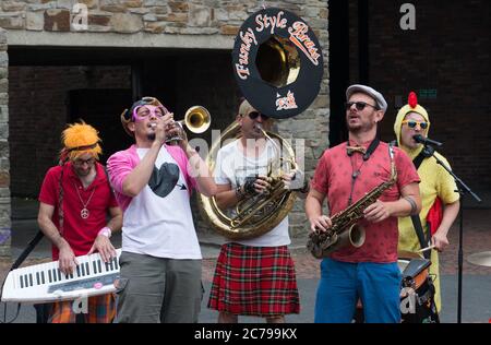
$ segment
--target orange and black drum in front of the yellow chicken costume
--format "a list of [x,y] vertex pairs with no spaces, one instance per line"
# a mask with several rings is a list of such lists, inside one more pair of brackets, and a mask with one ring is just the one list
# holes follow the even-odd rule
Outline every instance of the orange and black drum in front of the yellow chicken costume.
[[[400,288],[402,323],[440,323],[434,304],[434,286],[429,273],[431,261],[417,254],[397,260],[403,275]],[[363,322],[363,307],[358,301],[354,322]]]

